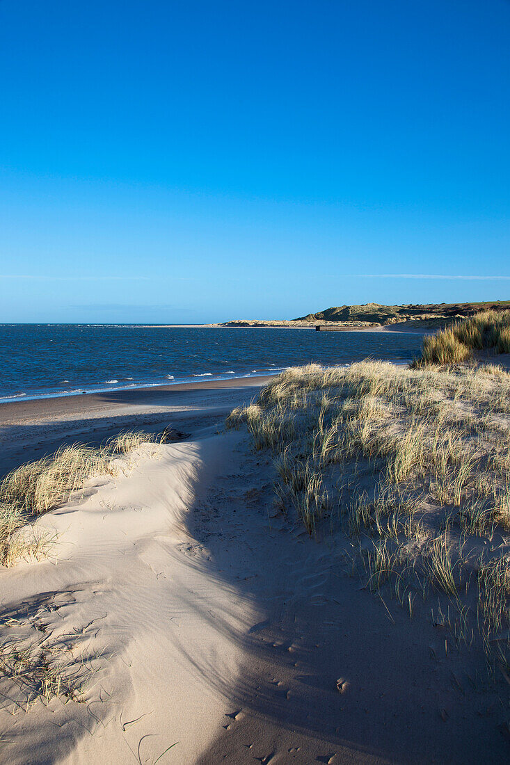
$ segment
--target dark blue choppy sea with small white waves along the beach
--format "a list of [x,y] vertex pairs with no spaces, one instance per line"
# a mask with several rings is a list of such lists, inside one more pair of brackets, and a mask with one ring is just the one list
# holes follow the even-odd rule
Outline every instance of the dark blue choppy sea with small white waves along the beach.
[[407,361],[419,334],[309,329],[0,325],[0,402],[234,379],[315,361]]

